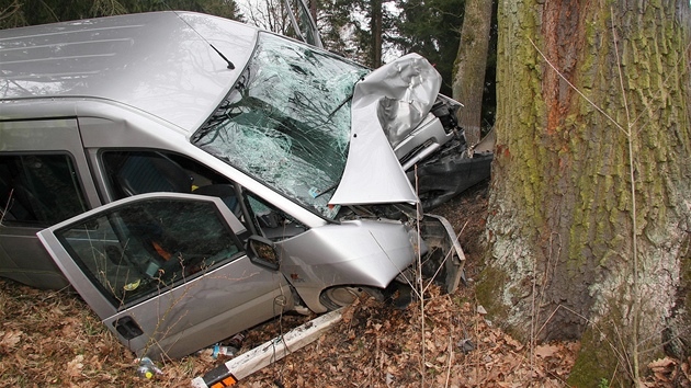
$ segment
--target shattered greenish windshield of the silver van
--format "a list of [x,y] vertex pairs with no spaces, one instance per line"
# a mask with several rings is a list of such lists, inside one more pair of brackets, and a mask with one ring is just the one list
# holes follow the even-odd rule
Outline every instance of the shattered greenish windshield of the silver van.
[[350,99],[369,70],[261,33],[257,49],[192,142],[301,204],[333,218],[328,202],[350,138]]

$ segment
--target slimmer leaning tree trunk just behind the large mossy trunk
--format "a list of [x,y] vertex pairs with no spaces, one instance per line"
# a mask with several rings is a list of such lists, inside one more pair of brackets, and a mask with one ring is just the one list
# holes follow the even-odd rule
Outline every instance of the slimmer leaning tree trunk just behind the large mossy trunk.
[[480,139],[491,4],[492,0],[466,0],[453,76],[453,98],[464,105],[458,111],[458,124],[472,146]]

